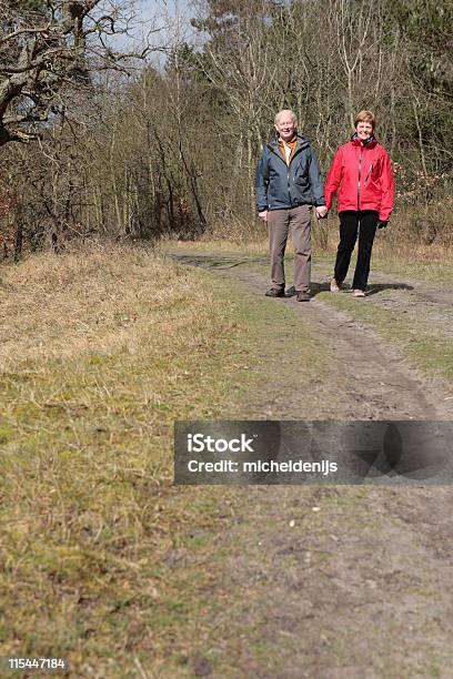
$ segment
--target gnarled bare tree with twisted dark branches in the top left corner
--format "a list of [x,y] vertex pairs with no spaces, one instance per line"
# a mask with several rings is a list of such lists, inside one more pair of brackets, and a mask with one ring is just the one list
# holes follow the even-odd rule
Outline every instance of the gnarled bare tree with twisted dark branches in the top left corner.
[[120,0],[0,0],[0,145],[36,139],[93,71],[123,68],[109,37],[133,16]]

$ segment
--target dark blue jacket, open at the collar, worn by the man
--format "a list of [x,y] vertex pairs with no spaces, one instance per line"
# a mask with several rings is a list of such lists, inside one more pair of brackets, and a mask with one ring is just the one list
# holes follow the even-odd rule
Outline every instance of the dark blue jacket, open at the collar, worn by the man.
[[256,207],[281,210],[298,205],[325,205],[316,155],[310,143],[298,134],[298,143],[286,165],[279,142],[268,144],[256,168]]

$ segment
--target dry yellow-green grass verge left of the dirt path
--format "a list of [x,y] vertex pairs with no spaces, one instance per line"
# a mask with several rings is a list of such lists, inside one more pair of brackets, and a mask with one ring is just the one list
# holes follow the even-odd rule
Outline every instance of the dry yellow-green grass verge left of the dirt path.
[[[114,247],[4,267],[0,308],[0,653],[66,657],[71,676],[192,672],[181,657],[214,604],[187,546],[212,548],[240,495],[171,485],[172,425],[246,417],[290,312]],[[326,356],[311,363],[300,325],[310,379]]]

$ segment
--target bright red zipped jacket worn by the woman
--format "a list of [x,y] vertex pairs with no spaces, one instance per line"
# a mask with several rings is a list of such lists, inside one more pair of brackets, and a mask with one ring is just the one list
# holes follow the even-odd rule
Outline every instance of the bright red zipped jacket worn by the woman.
[[325,182],[328,210],[339,186],[339,212],[376,210],[380,220],[390,220],[394,194],[392,165],[385,149],[375,140],[363,144],[353,139],[336,151]]

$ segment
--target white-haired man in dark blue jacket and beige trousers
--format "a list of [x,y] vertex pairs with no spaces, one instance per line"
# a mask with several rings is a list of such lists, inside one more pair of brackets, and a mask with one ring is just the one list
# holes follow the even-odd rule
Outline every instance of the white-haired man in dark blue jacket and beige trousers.
[[321,172],[310,143],[298,134],[292,111],[279,111],[274,120],[278,140],[268,144],[256,169],[258,214],[268,222],[272,287],[268,297],[284,297],[284,251],[291,230],[295,260],[294,286],[286,296],[310,301],[311,209],[318,219],[326,215]]

